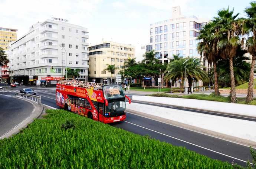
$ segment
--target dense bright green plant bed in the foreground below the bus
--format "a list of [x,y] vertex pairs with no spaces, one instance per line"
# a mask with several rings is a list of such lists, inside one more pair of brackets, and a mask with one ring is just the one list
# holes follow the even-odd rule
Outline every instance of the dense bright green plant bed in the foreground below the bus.
[[46,119],[0,140],[0,168],[233,168],[68,111],[47,113]]

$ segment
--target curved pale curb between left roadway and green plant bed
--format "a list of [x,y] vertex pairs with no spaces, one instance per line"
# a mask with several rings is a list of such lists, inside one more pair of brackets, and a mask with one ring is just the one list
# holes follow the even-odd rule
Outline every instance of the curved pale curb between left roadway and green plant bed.
[[36,118],[38,118],[42,114],[42,112],[44,110],[44,106],[41,103],[36,103],[36,102],[34,102],[32,100],[28,100],[28,99],[24,99],[24,98],[22,99],[22,98],[19,98],[19,97],[15,97],[15,99],[21,99],[21,100],[24,100],[24,101],[27,101],[27,102],[31,103],[34,106],[34,110],[21,123],[17,124],[14,128],[12,128],[6,134],[2,135],[0,137],[0,139],[9,138],[9,137],[12,137],[13,135],[19,133],[22,129],[26,128],[27,125],[29,125]]

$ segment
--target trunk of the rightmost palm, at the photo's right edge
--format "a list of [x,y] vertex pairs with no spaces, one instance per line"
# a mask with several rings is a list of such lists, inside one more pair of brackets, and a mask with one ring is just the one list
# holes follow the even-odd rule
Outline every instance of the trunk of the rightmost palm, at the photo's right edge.
[[255,59],[256,59],[256,56],[252,56],[246,103],[250,103],[253,100],[253,77],[254,77],[254,69],[255,69]]

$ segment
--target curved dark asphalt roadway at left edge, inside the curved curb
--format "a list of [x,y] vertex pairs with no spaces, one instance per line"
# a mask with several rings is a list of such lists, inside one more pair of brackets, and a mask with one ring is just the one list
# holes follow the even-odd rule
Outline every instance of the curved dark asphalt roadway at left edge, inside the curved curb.
[[33,109],[33,104],[27,101],[0,95],[0,136],[21,123]]

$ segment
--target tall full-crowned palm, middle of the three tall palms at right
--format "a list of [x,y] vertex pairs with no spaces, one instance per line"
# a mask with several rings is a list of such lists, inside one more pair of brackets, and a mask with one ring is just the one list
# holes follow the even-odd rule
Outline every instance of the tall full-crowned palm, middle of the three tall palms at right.
[[219,28],[220,41],[218,47],[220,48],[220,56],[223,59],[229,61],[230,69],[230,82],[231,82],[231,102],[236,103],[236,83],[234,78],[233,58],[236,56],[237,48],[240,45],[241,29],[237,24],[236,17],[238,14],[234,14],[234,9],[223,9],[218,12],[219,19],[216,21],[215,27]]

